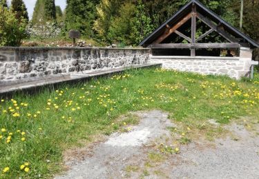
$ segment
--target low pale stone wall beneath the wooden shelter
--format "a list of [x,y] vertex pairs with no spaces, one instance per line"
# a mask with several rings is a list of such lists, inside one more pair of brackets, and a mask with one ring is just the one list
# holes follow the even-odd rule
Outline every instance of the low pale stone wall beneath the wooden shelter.
[[212,56],[151,56],[151,63],[162,63],[166,69],[199,74],[227,75],[240,79],[249,76],[251,58]]

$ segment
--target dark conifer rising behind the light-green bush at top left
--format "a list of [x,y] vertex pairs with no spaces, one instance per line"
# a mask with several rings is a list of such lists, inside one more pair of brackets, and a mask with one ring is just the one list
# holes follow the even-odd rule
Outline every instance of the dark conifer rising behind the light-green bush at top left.
[[23,0],[12,0],[11,2],[12,11],[16,12],[17,19],[26,19],[29,21],[27,8]]

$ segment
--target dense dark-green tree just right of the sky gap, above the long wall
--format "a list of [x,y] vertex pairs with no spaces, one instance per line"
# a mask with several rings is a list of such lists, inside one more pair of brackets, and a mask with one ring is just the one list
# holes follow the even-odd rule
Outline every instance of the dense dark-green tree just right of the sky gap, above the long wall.
[[99,0],[67,0],[65,31],[79,30],[82,36],[93,38],[93,21],[96,19],[96,8]]

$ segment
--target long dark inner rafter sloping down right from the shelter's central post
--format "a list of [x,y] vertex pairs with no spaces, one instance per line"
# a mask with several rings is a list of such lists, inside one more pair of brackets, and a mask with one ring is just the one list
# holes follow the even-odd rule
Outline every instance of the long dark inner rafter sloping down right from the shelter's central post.
[[197,17],[204,23],[206,23],[210,28],[212,28],[213,30],[215,30],[215,32],[218,32],[218,34],[220,34],[221,36],[223,36],[225,39],[227,39],[227,41],[231,42],[231,43],[238,43],[238,40],[233,38],[232,36],[230,36],[225,30],[224,28],[219,28],[217,25],[215,25],[215,23],[213,23],[211,20],[207,19],[207,17],[202,16],[202,14],[200,14],[199,12],[197,12]]

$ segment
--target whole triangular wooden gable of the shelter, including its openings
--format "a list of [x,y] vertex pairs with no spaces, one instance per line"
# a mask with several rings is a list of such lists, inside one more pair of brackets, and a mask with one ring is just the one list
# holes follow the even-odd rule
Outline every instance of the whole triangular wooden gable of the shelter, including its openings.
[[256,41],[221,19],[197,0],[191,0],[173,14],[147,36],[140,46],[152,50],[181,49],[185,52],[189,51],[191,56],[195,56],[195,52],[201,49],[259,48]]

